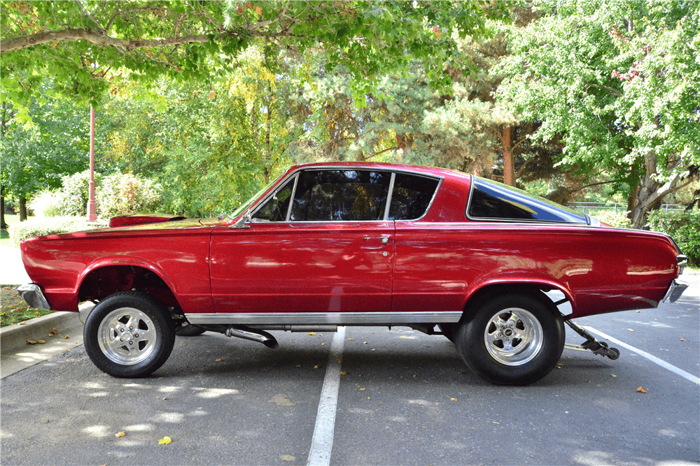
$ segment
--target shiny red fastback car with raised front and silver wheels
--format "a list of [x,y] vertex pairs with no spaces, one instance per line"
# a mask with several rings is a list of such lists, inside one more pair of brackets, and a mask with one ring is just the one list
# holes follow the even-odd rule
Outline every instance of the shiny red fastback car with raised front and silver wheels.
[[448,337],[494,384],[531,384],[559,361],[565,323],[585,348],[619,356],[571,319],[657,307],[687,288],[668,235],[610,228],[464,173],[384,163],[295,166],[226,219],[116,217],[25,240],[22,259],[30,305],[96,303],[85,350],[116,377],[157,370],[177,333],[276,347],[269,330],[409,326]]

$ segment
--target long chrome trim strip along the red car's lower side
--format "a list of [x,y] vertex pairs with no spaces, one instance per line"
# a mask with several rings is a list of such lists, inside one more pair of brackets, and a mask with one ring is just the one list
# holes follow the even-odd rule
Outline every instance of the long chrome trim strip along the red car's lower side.
[[185,314],[195,325],[382,325],[458,322],[457,312],[208,312]]

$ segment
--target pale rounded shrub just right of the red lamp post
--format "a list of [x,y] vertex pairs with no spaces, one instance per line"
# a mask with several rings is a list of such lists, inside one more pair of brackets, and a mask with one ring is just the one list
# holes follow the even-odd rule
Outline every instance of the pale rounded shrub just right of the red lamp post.
[[100,217],[155,212],[162,204],[162,186],[131,173],[114,173],[102,177],[97,192]]

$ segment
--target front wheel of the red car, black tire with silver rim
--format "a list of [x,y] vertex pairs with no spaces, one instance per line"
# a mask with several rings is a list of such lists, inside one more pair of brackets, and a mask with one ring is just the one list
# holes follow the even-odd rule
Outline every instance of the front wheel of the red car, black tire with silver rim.
[[172,352],[175,322],[160,301],[141,291],[120,291],[94,307],[83,330],[92,363],[113,377],[146,377]]

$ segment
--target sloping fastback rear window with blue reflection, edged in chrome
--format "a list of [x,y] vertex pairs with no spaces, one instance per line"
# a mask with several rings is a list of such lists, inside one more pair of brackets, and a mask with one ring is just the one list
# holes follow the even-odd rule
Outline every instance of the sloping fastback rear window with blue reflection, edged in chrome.
[[588,223],[587,217],[580,212],[479,177],[472,177],[467,217],[475,220]]

